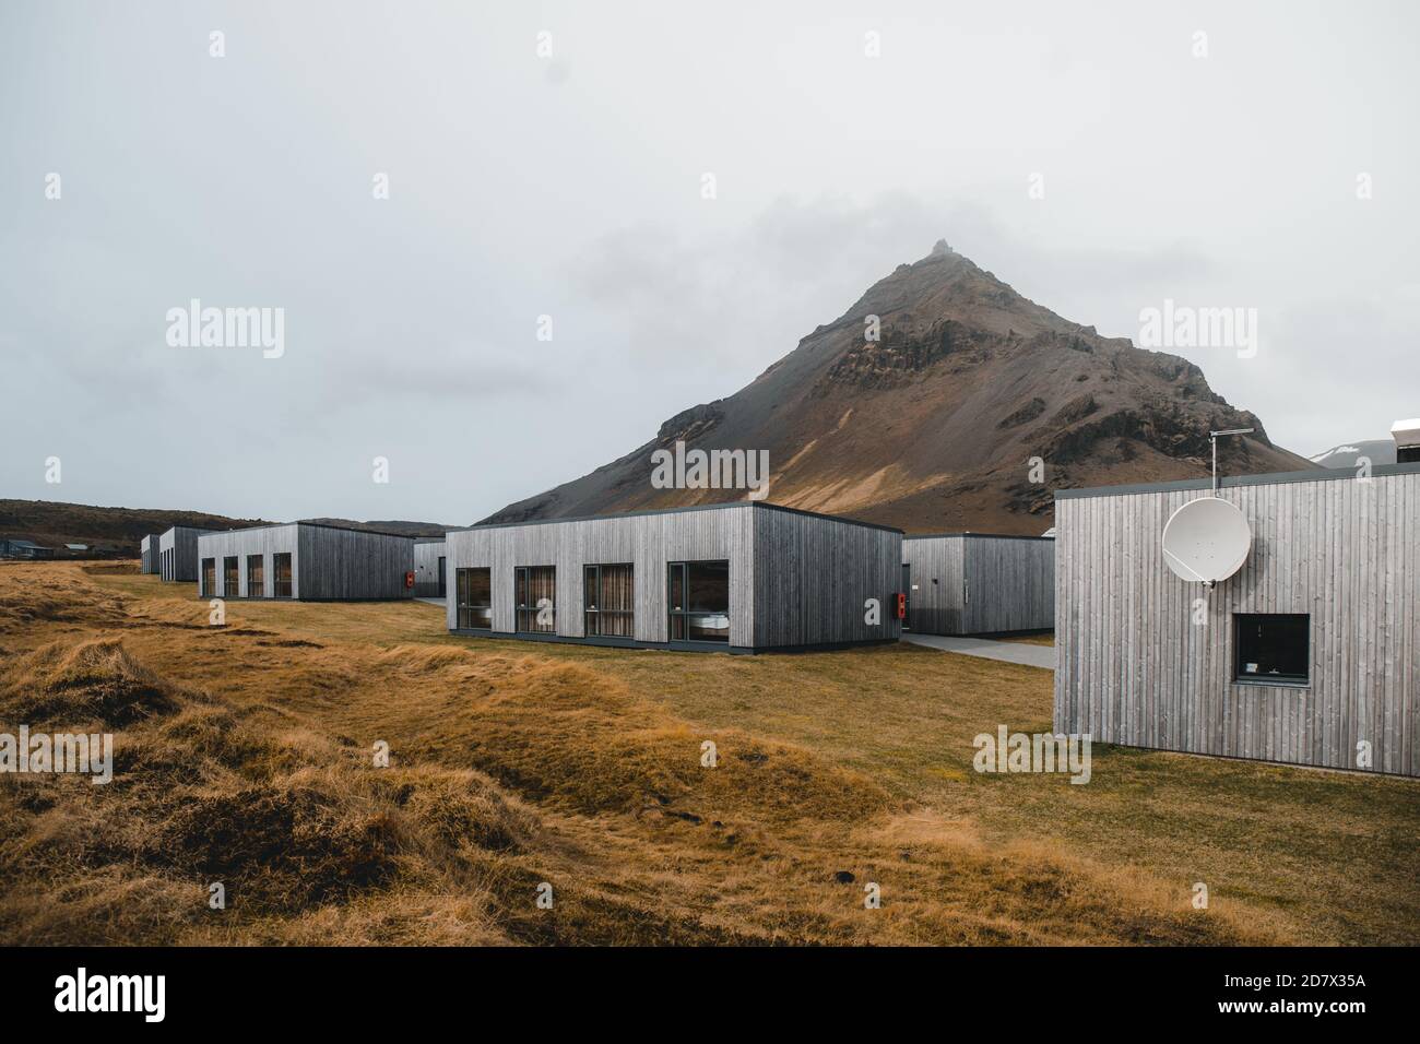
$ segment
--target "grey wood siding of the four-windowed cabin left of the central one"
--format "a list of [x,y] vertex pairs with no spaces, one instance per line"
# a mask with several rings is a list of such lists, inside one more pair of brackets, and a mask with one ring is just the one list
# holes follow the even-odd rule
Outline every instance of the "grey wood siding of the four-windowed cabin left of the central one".
[[[291,555],[291,598],[295,601],[379,601],[410,598],[405,574],[415,568],[415,541],[361,530],[290,523],[248,530],[210,533],[199,540],[197,558],[217,560],[217,591],[222,598],[248,597],[247,558],[261,555],[261,598],[271,598],[275,585],[273,555]],[[236,555],[239,585],[226,589],[222,560]]]

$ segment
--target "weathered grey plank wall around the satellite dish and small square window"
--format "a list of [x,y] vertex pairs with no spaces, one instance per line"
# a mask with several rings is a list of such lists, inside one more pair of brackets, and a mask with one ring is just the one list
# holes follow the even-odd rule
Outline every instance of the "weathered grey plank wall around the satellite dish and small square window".
[[[1387,469],[1389,470],[1389,469]],[[1420,774],[1420,470],[1224,486],[1252,527],[1211,592],[1159,538],[1196,487],[1055,501],[1055,729],[1200,754]],[[1204,599],[1206,624],[1191,622]],[[1238,612],[1311,615],[1306,687],[1235,683]]]

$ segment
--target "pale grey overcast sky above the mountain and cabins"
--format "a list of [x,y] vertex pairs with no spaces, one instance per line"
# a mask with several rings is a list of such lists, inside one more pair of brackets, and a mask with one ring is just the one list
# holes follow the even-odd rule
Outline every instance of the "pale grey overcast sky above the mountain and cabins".
[[[1255,358],[1177,354],[1288,449],[1386,437],[1417,11],[4,0],[0,497],[467,524],[939,237],[1106,335],[1257,308]],[[169,345],[192,298],[284,354]]]

